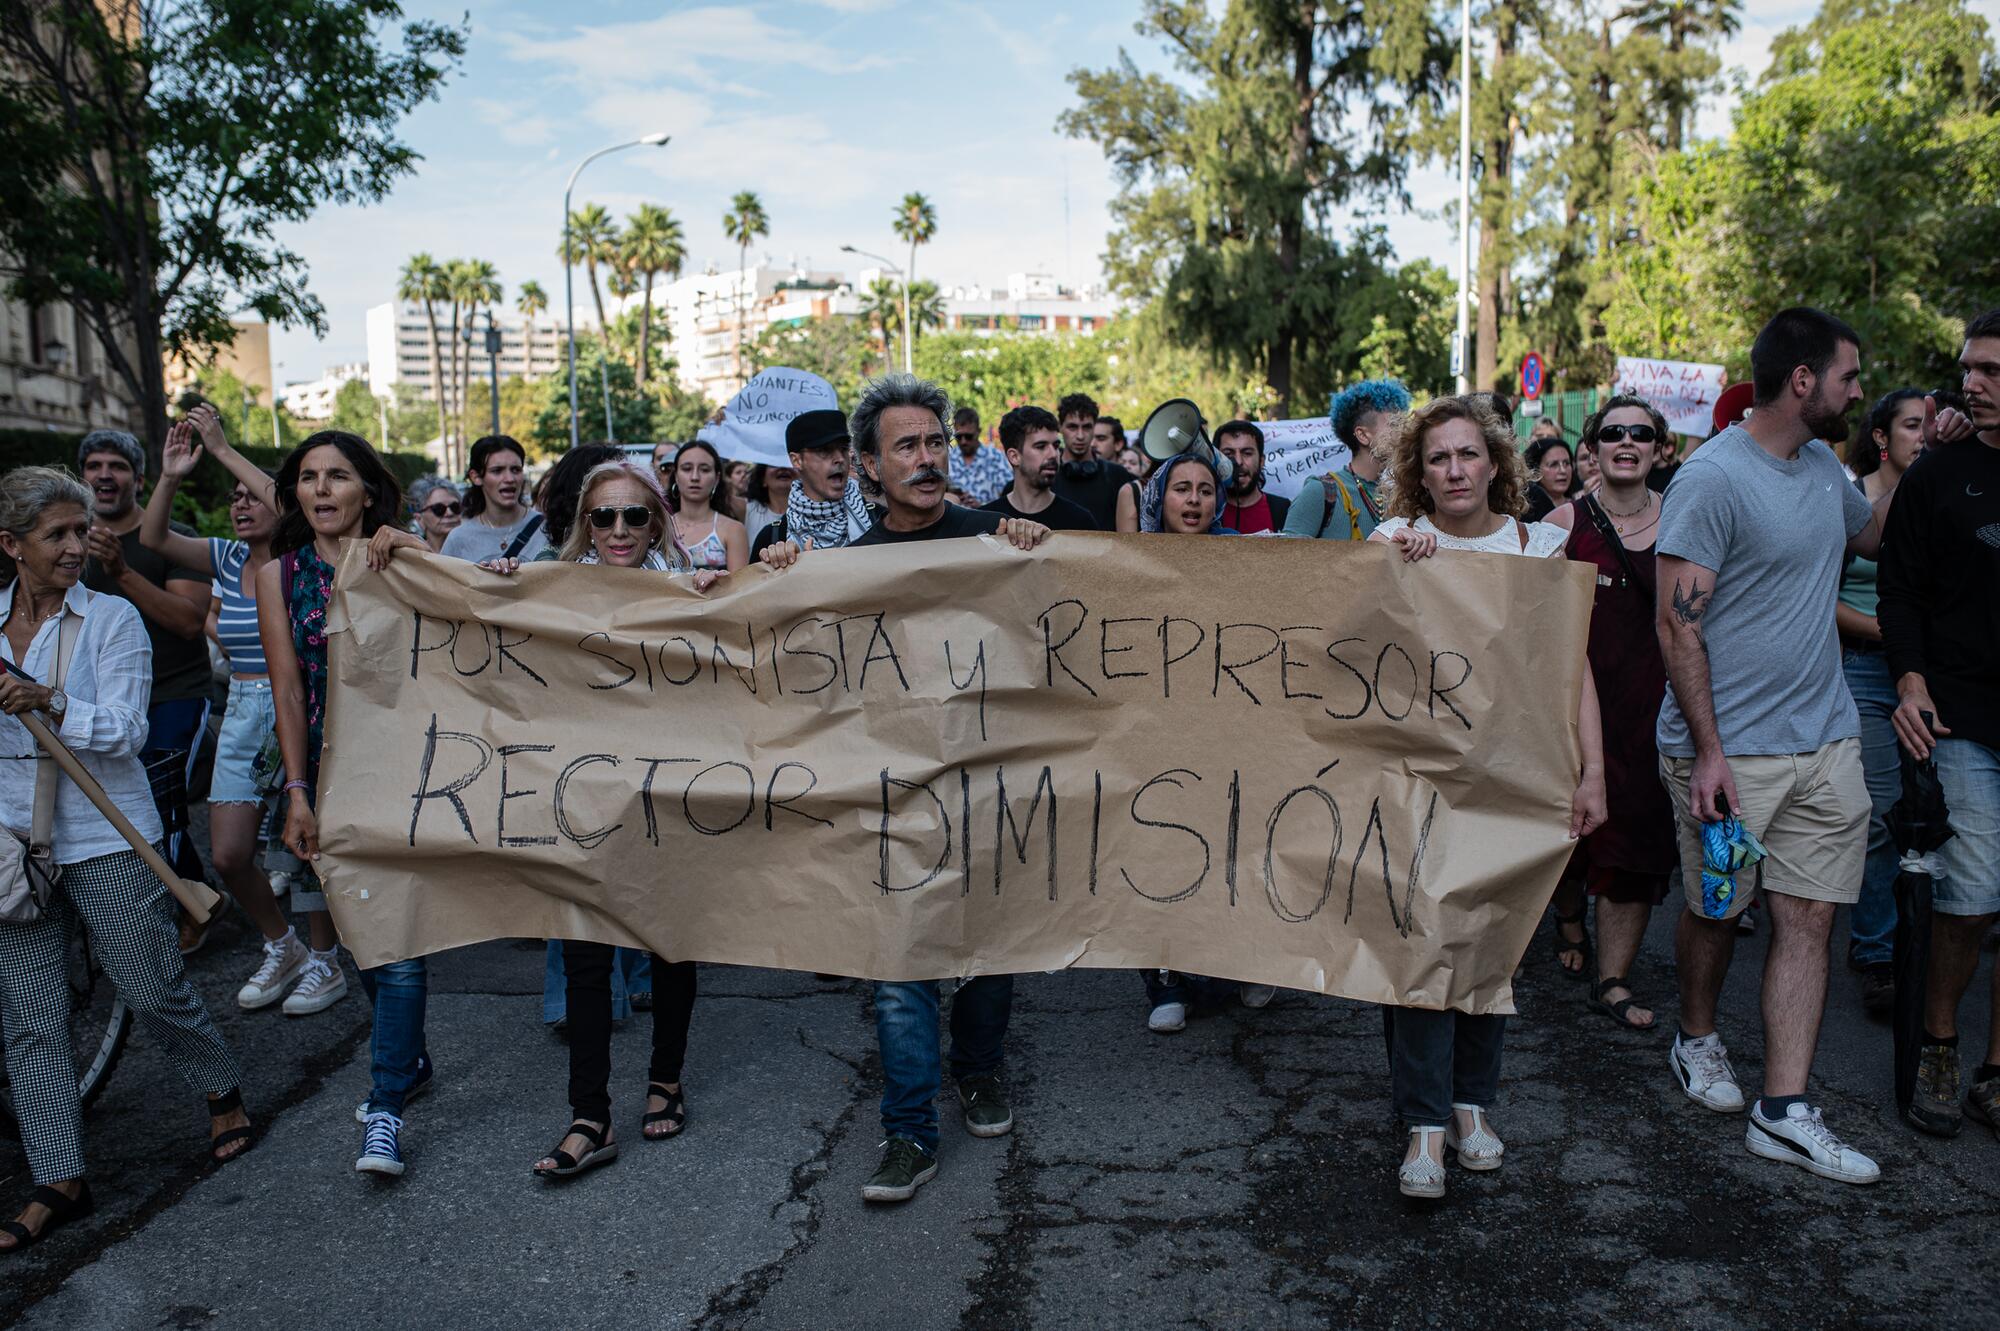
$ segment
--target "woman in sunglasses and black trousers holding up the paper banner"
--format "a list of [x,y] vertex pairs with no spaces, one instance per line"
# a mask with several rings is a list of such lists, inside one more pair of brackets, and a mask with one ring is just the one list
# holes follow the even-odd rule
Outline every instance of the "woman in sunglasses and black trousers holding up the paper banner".
[[[556,558],[662,574],[692,572],[696,592],[706,592],[720,576],[694,570],[694,560],[674,536],[674,518],[660,484],[626,460],[598,464],[584,476],[576,518]],[[514,574],[520,564],[488,560],[480,568]],[[618,1159],[610,1097],[612,953],[610,943],[562,943],[572,1119],[556,1149],[534,1161],[534,1173],[544,1179],[566,1179]],[[680,1065],[688,1053],[688,1023],[694,1015],[694,963],[654,959],[652,993],[652,1067],[640,1133],[646,1141],[664,1141],[688,1123]]]

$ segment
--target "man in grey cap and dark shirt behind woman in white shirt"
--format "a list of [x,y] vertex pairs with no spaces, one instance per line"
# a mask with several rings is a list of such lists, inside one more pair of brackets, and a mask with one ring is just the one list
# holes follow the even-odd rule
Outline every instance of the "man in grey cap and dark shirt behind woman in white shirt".
[[[90,516],[90,562],[84,566],[84,586],[92,592],[122,596],[138,606],[152,642],[152,697],[146,707],[146,749],[140,761],[148,773],[168,753],[182,755],[180,797],[168,801],[160,815],[168,821],[168,859],[182,877],[202,879],[202,857],[188,833],[186,783],[194,773],[202,727],[208,725],[208,644],[202,630],[208,624],[210,578],[206,572],[172,564],[138,540],[144,514],[138,508],[140,478],[146,476],[146,450],[122,430],[92,430],[76,446],[76,470],[90,486],[94,514]],[[174,524],[182,536],[190,528]],[[174,831],[180,827],[180,831]],[[182,919],[180,949],[202,945],[206,929]]]

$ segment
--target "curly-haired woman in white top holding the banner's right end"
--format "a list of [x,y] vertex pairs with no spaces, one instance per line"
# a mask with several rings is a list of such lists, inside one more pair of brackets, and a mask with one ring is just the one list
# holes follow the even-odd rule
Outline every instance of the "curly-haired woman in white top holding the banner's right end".
[[[1436,550],[1558,560],[1570,534],[1522,522],[1528,468],[1514,432],[1482,402],[1438,398],[1404,418],[1390,446],[1390,516],[1368,538],[1404,558]],[[1532,632],[1532,626],[1530,626]],[[1584,669],[1576,715],[1584,763],[1570,795],[1570,835],[1604,823],[1604,739],[1598,693]],[[1506,1017],[1420,1007],[1390,1009],[1390,1095],[1410,1129],[1396,1183],[1408,1197],[1444,1195],[1444,1151],[1466,1169],[1498,1169],[1506,1151],[1486,1121],[1500,1089]]]

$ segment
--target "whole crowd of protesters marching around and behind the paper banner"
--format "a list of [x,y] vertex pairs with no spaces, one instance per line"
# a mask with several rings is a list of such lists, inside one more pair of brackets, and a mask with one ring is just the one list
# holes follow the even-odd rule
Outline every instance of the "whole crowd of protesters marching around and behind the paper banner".
[[[1846,959],[1870,1011],[1920,987],[1902,995],[1922,1013],[1904,1119],[1932,1135],[1966,1117],[2000,1131],[2000,1021],[1986,1049],[1958,1041],[2000,915],[2000,310],[1968,320],[1952,388],[1890,386],[1868,402],[1860,336],[1810,308],[1776,312],[1748,358],[1754,406],[1686,452],[1636,396],[1604,400],[1574,436],[1540,424],[1522,442],[1494,394],[1420,402],[1402,384],[1360,382],[1328,406],[1344,460],[1290,500],[1266,490],[1258,422],[1160,450],[1068,394],[1008,410],[994,448],[976,412],[908,374],[874,380],[846,410],[794,416],[788,466],[726,458],[706,438],[660,444],[650,460],[586,444],[530,482],[528,452],[488,436],[462,488],[426,478],[404,494],[358,436],[314,434],[272,476],[196,406],[174,422],[158,476],[116,432],[86,436],[74,474],[6,472],[0,821],[14,835],[0,837],[12,849],[0,863],[0,1007],[34,1189],[0,1223],[0,1251],[92,1211],[66,1025],[70,929],[88,931],[140,1029],[206,1097],[208,1155],[224,1163],[258,1141],[236,1057],[182,961],[206,923],[176,907],[28,725],[60,737],[180,877],[204,879],[184,805],[210,729],[210,644],[228,675],[208,781],[212,877],[262,935],[236,1001],[296,1019],[372,1003],[354,1167],[406,1169],[404,1119],[450,1065],[450,1049],[426,1041],[426,965],[360,969],[364,997],[350,993],[314,877],[328,608],[346,540],[364,542],[376,570],[440,558],[520,580],[534,562],[568,562],[652,570],[696,592],[752,564],[810,580],[842,548],[986,536],[1034,552],[1072,532],[1374,542],[1438,578],[1468,554],[1588,566],[1580,705],[1572,717],[1564,695],[1554,717],[1580,737],[1582,763],[1560,791],[1574,853],[1550,903],[1554,949],[1522,965],[1560,967],[1604,1021],[1656,1031],[1662,1075],[1738,1117],[1750,1153],[1874,1183],[1868,1143],[1842,1139],[1812,1095],[1846,905]],[[234,480],[232,538],[170,522],[196,468]],[[1508,632],[1526,656],[1546,652],[1532,622]],[[1914,977],[1892,971],[1906,869],[1892,815],[1906,771],[1934,781],[1956,833],[1938,849],[1928,963]],[[1636,961],[1668,901],[1678,993],[1648,993]],[[1750,929],[1770,933],[1766,1055],[1744,1081],[1724,1027],[1752,1013],[1722,1011],[1718,997]],[[612,1025],[634,1009],[652,1021],[640,1137],[690,1131],[696,991],[692,961],[548,941],[542,1019],[566,1037],[572,1121],[532,1159],[534,1175],[616,1159]],[[1132,983],[1134,1037],[1272,997],[1268,985],[1146,969]],[[884,1143],[868,1201],[906,1201],[936,1175],[946,1063],[968,1133],[1014,1127],[1012,999],[1010,975],[966,979],[948,995],[946,1039],[936,979],[874,983]],[[2000,985],[1988,1001],[2000,1005]],[[1454,1157],[1470,1171],[1506,1163],[1506,1027],[1502,1015],[1384,1007],[1386,1105],[1406,1133],[1384,1173],[1404,1195],[1444,1197]]]

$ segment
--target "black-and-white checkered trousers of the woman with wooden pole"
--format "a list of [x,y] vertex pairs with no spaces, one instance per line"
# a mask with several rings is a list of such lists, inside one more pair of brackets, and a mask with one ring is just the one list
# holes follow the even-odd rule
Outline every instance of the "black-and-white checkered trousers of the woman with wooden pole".
[[202,995],[180,961],[166,883],[132,851],[98,855],[62,871],[56,909],[30,925],[0,923],[0,1025],[6,1075],[36,1183],[84,1173],[82,1105],[70,1049],[70,987],[64,925],[72,909],[90,929],[90,947],[124,995],[138,1025],[180,1065],[202,1095],[242,1079],[236,1055],[208,1019]]

